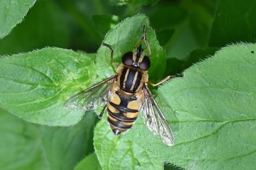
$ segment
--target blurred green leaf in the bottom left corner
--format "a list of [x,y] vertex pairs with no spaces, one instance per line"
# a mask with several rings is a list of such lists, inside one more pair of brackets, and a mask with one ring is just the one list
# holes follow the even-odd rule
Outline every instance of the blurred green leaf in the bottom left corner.
[[0,109],[0,169],[73,169],[93,150],[95,115],[72,127],[39,126]]

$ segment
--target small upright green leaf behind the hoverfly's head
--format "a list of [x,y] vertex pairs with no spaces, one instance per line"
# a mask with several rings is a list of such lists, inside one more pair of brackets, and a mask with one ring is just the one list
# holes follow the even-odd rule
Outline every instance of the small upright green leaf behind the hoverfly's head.
[[[132,51],[139,38],[141,38],[143,34],[143,25],[146,25],[147,38],[152,51],[152,56],[150,57],[152,64],[149,70],[151,75],[150,79],[159,79],[165,72],[165,51],[157,41],[154,30],[149,26],[147,16],[138,14],[126,18],[106,34],[103,42],[112,46],[114,50],[114,62],[121,63],[122,55],[128,51]],[[144,45],[145,44],[143,43],[143,48],[147,55],[148,51]],[[110,64],[110,50],[105,46],[100,46],[97,51],[96,63],[97,70],[99,72],[104,72],[105,76],[113,75],[116,70],[116,68],[112,68]],[[109,69],[107,70],[106,68]],[[154,72],[157,72],[158,74],[153,74]]]

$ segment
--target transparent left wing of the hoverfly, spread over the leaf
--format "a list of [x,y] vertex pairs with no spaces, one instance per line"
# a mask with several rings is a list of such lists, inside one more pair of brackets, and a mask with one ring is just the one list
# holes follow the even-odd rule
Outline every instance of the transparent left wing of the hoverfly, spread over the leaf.
[[64,107],[89,111],[106,104],[110,85],[115,81],[116,77],[117,75],[110,76],[108,79],[71,96],[71,98],[65,102]]

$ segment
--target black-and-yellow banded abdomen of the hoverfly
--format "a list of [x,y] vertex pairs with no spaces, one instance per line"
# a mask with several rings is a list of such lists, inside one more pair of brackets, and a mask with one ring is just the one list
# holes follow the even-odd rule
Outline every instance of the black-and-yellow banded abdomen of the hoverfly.
[[108,122],[115,134],[120,134],[132,127],[139,114],[139,103],[135,96],[126,98],[119,91],[111,94],[107,104]]

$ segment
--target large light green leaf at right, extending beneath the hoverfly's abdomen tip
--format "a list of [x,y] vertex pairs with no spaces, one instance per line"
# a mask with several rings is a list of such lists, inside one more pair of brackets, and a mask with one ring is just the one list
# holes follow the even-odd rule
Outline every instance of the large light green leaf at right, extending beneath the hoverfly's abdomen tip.
[[[222,48],[185,70],[183,78],[159,87],[156,100],[174,130],[173,147],[154,136],[141,118],[119,137],[106,121],[97,124],[94,143],[102,168],[123,169],[129,160],[130,167],[142,169],[148,160],[147,169],[162,169],[161,159],[188,170],[255,169],[255,52],[256,44]],[[158,166],[150,167],[156,156]]]

